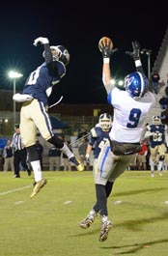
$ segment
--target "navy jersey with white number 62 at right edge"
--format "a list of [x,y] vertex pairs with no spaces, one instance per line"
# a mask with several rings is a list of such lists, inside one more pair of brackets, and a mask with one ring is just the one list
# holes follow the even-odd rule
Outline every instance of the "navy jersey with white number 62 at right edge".
[[153,134],[150,136],[150,146],[154,148],[155,146],[161,145],[165,142],[165,125],[151,125],[148,127]]

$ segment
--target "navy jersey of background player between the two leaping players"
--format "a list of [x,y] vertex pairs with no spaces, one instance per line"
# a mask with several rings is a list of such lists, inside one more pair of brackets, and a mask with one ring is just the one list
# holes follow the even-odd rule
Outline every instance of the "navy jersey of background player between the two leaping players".
[[94,150],[94,158],[98,158],[103,144],[107,139],[109,139],[109,131],[103,131],[100,127],[95,127],[91,129],[91,138],[89,141],[89,145],[91,145]]

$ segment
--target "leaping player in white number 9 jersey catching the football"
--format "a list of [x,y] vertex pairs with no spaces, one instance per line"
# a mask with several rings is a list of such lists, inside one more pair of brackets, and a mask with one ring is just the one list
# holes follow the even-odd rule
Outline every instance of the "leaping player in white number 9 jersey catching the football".
[[113,106],[114,115],[113,126],[109,133],[110,140],[105,142],[98,156],[98,172],[95,177],[97,202],[87,215],[89,225],[86,227],[90,227],[99,213],[101,220],[99,242],[103,242],[113,227],[108,219],[105,185],[107,181],[114,183],[125,172],[135,154],[140,152],[141,136],[149,110],[155,105],[155,98],[149,91],[148,79],[142,68],[139,43],[132,42],[133,51],[126,52],[133,58],[136,71],[126,75],[125,90],[120,90],[111,82],[110,57],[115,51],[112,41],[104,37],[99,41],[98,46],[103,61],[102,81],[108,102]]

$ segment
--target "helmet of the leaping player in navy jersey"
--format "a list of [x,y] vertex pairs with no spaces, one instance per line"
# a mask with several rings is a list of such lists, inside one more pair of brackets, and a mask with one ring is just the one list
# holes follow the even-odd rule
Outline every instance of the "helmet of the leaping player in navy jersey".
[[[67,48],[65,48],[63,45],[52,45],[50,46],[52,57],[54,61],[61,61],[64,63],[64,65],[68,65],[70,62],[70,53]],[[42,53],[42,57],[44,58],[45,51]]]

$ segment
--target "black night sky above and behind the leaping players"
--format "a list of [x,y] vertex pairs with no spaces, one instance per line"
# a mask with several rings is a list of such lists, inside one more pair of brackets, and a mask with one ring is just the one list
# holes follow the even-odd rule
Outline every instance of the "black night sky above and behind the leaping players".
[[[96,1],[92,8],[87,1],[85,4],[78,1],[78,5],[72,1],[34,2],[1,6],[1,89],[13,89],[13,82],[7,76],[10,69],[23,73],[16,81],[17,91],[22,89],[29,73],[42,64],[43,47],[33,45],[38,37],[47,37],[51,45],[62,44],[70,51],[67,74],[54,88],[51,103],[60,96],[64,97],[63,103],[106,103],[101,80],[102,58],[98,51],[102,36],[110,37],[114,47],[119,48],[111,60],[114,77],[124,78],[128,72],[135,71],[131,58],[125,53],[132,49],[134,40],[141,48],[152,49],[153,68],[168,25],[165,5],[157,3],[146,7],[134,1],[134,5],[120,3],[117,6],[114,1],[103,1],[101,5]],[[147,55],[142,55],[142,61],[147,73]]]

